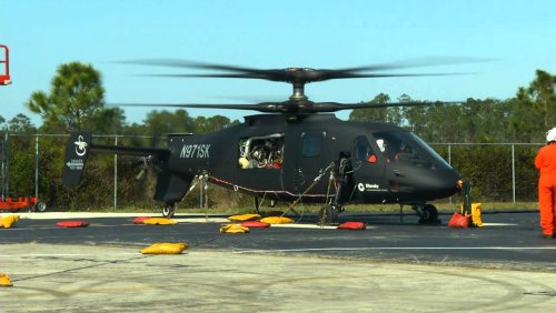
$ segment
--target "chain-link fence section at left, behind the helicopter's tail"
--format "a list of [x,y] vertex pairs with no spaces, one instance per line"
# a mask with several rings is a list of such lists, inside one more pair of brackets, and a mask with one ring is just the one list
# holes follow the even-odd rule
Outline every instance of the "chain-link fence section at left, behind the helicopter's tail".
[[[92,153],[78,188],[62,183],[63,153],[67,134],[2,135],[2,198],[38,195],[50,208],[152,208],[156,174],[143,169],[137,158]],[[157,147],[165,138],[137,135],[96,135],[100,144]]]

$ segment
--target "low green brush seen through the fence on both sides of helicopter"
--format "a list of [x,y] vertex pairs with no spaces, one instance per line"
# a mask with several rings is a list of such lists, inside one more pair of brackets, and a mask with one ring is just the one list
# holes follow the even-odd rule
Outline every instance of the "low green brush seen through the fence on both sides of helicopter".
[[[34,194],[34,135],[10,137],[10,195]],[[62,184],[63,150],[67,137],[39,138],[39,196],[52,211],[87,211],[113,208],[113,155],[91,154],[83,181],[77,188]],[[102,142],[105,141],[105,142]],[[112,139],[97,142],[113,144]],[[435,144],[435,150],[448,160],[448,144]],[[538,173],[534,158],[538,150],[533,144],[514,147],[516,201],[534,202],[537,199]],[[453,168],[471,185],[474,201],[512,202],[513,162],[509,144],[450,144]],[[118,208],[152,209],[161,203],[152,200],[157,172],[149,170],[137,180],[141,164],[136,158],[118,158]],[[214,209],[254,208],[252,196],[209,184],[208,205]],[[199,186],[179,204],[179,208],[199,208]]]

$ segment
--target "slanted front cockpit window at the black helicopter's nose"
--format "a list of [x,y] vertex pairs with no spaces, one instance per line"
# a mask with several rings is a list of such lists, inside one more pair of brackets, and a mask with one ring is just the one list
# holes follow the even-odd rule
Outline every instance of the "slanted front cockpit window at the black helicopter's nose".
[[378,132],[374,137],[387,162],[426,169],[450,168],[433,148],[411,132]]

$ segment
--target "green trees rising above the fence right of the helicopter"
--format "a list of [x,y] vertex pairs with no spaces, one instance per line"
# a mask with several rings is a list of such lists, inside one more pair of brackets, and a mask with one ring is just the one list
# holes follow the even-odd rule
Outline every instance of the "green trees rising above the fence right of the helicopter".
[[[425,107],[393,107],[354,110],[350,120],[376,120],[407,128],[427,142],[544,142],[545,132],[556,127],[556,77],[537,70],[528,87],[516,97],[473,99],[453,104],[429,102]],[[419,103],[403,94],[398,102]],[[388,103],[379,93],[366,103]]]

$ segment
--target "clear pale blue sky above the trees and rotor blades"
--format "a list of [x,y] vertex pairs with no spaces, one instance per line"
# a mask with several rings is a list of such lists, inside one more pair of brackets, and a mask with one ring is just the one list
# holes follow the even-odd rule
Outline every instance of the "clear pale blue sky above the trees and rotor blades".
[[[357,103],[380,92],[393,101],[460,101],[515,95],[535,70],[556,74],[553,0],[0,0],[0,44],[10,48],[12,84],[0,87],[0,115],[39,115],[24,107],[49,91],[62,63],[92,64],[111,103],[284,101],[282,82],[176,79],[193,73],[117,61],[183,59],[252,68],[346,68],[420,58],[492,61],[406,69],[465,75],[349,79],[306,85],[312,101]],[[3,59],[3,57],[0,57]],[[3,69],[0,70],[3,72]],[[399,70],[397,72],[400,72]],[[123,108],[128,123],[151,110]],[[167,108],[172,111],[176,109]],[[188,109],[190,115],[240,119],[255,111]],[[337,113],[347,119],[349,112]]]

